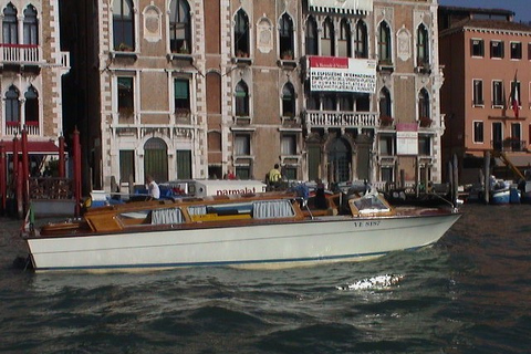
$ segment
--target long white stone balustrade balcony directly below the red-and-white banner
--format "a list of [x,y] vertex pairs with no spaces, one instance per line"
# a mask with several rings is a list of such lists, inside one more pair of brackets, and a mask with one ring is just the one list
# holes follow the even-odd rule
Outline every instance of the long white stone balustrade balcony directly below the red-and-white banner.
[[312,128],[376,128],[379,125],[376,112],[306,111],[306,131]]

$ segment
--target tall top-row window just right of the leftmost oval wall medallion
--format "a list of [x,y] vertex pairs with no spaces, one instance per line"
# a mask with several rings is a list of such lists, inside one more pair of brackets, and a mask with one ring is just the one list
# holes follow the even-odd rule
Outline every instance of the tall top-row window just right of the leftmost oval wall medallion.
[[169,4],[169,49],[173,53],[191,53],[190,6],[186,0]]

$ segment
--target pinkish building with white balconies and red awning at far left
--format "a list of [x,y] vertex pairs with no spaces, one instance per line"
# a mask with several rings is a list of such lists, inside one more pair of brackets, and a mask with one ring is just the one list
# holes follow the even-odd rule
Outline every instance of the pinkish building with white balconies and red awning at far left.
[[[44,156],[58,154],[63,134],[61,80],[70,54],[60,48],[58,1],[0,1],[0,145],[12,170],[13,138],[28,133],[30,167],[43,169]],[[19,146],[20,150],[20,146]]]

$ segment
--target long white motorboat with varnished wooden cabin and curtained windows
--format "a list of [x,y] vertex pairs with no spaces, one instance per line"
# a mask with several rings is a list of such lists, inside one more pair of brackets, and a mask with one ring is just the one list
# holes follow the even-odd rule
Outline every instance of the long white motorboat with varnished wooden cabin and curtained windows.
[[395,209],[378,194],[329,196],[325,209],[312,205],[274,192],[139,201],[93,208],[81,219],[39,229],[25,225],[22,237],[38,271],[279,268],[426,247],[460,216],[454,209]]

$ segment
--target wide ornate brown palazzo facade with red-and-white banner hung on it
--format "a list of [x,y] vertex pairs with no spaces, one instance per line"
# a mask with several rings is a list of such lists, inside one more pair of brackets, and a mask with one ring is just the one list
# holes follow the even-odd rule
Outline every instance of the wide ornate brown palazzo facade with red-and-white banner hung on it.
[[436,0],[80,8],[97,23],[80,50],[96,83],[82,125],[94,188],[263,179],[277,163],[299,180],[441,179]]

